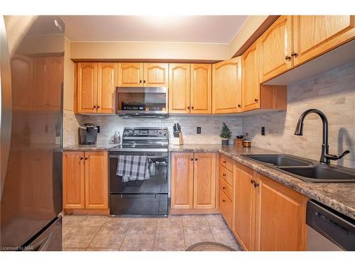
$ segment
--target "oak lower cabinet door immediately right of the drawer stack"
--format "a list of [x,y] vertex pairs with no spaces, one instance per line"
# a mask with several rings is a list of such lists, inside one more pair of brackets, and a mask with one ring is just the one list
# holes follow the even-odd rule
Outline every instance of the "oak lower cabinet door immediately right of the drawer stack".
[[236,165],[234,185],[234,232],[239,236],[246,250],[253,250],[254,198],[253,170],[244,165]]

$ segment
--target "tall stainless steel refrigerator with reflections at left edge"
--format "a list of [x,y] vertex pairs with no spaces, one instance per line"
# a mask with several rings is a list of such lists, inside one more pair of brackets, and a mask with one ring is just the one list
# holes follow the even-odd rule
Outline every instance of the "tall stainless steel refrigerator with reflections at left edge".
[[62,250],[65,25],[0,17],[0,250]]

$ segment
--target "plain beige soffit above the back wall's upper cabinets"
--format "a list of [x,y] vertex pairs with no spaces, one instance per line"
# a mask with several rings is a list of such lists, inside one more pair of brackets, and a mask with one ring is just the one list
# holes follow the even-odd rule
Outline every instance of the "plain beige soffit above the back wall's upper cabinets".
[[72,59],[229,59],[223,43],[72,42],[71,50]]

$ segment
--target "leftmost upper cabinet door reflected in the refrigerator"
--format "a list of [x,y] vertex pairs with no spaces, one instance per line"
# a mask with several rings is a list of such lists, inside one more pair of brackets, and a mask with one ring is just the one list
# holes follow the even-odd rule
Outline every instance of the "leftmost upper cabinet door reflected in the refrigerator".
[[31,109],[33,90],[33,62],[31,57],[13,55],[11,58],[12,105],[18,109]]

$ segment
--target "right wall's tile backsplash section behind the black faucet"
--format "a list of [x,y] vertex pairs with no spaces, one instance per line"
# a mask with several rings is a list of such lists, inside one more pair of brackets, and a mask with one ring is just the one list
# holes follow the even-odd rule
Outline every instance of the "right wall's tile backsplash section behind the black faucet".
[[[350,150],[338,165],[355,167],[355,62],[317,74],[288,87],[288,109],[244,118],[243,129],[252,144],[282,153],[320,159],[322,122],[316,114],[305,120],[304,135],[294,135],[300,114],[320,109],[329,121],[329,151]],[[261,126],[266,135],[261,135]]]

